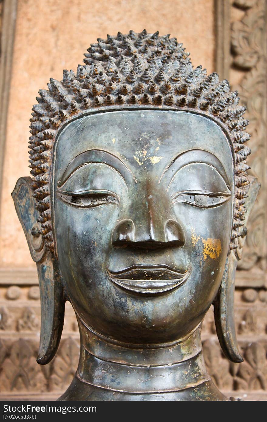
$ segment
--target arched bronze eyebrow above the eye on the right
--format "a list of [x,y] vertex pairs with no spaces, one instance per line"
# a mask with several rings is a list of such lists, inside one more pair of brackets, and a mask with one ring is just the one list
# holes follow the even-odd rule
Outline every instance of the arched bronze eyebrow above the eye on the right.
[[[221,164],[221,161],[211,152],[204,151],[203,149],[189,149],[188,151],[184,151],[177,155],[177,157],[175,157],[175,159],[170,164],[168,164],[163,171],[162,175],[160,176],[159,183],[163,178],[165,179],[166,177],[171,181],[178,170],[191,163],[208,164],[215,168],[219,175],[224,179],[228,189],[230,189],[229,179],[227,177],[226,171],[224,170],[224,166]],[[169,186],[170,184],[168,185],[168,189]]]

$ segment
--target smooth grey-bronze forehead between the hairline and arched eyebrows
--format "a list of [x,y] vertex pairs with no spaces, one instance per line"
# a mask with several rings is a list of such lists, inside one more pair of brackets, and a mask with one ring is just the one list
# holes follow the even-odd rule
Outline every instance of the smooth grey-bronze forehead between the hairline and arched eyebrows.
[[183,151],[203,149],[214,154],[232,178],[232,154],[221,128],[205,116],[186,111],[121,110],[80,117],[57,138],[57,175],[88,149],[116,154],[138,171],[155,164],[160,170]]

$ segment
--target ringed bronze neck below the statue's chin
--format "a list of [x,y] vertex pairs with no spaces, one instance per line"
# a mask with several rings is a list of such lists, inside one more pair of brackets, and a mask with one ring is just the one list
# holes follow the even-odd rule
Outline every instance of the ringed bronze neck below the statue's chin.
[[210,379],[205,368],[200,329],[172,344],[119,344],[79,322],[81,355],[76,377],[110,392],[179,392]]

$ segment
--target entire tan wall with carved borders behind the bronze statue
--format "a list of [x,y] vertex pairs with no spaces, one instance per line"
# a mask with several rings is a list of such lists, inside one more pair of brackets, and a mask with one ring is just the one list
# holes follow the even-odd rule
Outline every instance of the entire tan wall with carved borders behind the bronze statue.
[[[243,400],[267,400],[267,1],[0,0],[0,15],[1,6],[7,10],[11,3],[17,3],[15,36],[12,65],[8,68],[11,81],[5,148],[0,150],[4,154],[0,198],[0,400],[59,397],[73,378],[79,354],[77,323],[67,306],[56,357],[45,366],[36,363],[40,335],[38,279],[11,199],[17,179],[30,175],[27,143],[32,104],[49,78],[60,80],[65,68],[76,71],[83,53],[96,38],[144,28],[177,37],[190,51],[195,66],[202,64],[208,73],[217,70],[221,78],[229,77],[248,107],[253,139],[250,165],[262,189],[236,279],[235,317],[244,362],[232,364],[223,356],[212,309],[205,317],[202,340],[208,371],[221,391]],[[1,64],[5,61],[3,53]]]

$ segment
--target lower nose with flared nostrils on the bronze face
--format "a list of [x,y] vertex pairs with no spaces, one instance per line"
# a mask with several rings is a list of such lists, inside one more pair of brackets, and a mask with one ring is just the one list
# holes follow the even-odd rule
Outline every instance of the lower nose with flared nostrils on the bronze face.
[[[146,230],[137,230],[131,219],[121,220],[115,227],[112,236],[114,246],[132,246],[145,249],[166,248],[184,245],[184,233],[181,225],[175,220],[167,220],[162,225],[162,233],[150,227]],[[138,233],[139,231],[139,233]]]

